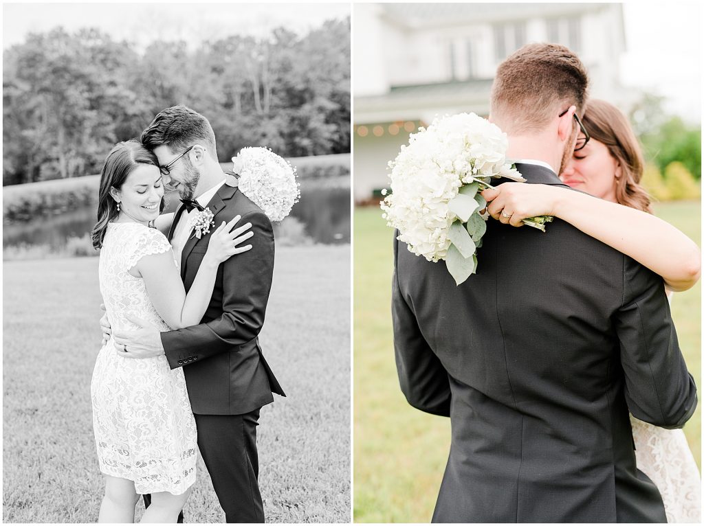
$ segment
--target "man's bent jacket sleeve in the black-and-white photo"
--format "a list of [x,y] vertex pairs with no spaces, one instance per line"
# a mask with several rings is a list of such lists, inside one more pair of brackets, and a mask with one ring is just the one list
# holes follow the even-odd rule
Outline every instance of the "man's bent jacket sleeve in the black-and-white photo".
[[171,368],[181,366],[178,362],[184,357],[198,361],[236,351],[261,331],[274,273],[274,231],[263,212],[245,214],[238,224],[246,222],[252,224],[251,250],[222,263],[222,314],[199,325],[161,333]]

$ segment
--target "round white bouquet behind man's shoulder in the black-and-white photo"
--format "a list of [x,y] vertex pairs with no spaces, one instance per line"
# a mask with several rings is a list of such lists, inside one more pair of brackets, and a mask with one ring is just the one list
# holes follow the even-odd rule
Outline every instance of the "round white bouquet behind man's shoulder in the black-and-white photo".
[[241,193],[272,222],[282,221],[301,198],[296,168],[270,148],[242,148],[232,163],[233,172],[239,174]]

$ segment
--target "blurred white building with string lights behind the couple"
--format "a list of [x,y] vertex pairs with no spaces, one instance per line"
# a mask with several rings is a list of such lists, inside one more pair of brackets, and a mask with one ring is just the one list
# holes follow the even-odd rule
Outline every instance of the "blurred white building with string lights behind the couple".
[[378,197],[386,163],[435,115],[488,115],[496,67],[533,41],[568,46],[589,70],[592,96],[627,102],[621,4],[355,4],[355,201]]

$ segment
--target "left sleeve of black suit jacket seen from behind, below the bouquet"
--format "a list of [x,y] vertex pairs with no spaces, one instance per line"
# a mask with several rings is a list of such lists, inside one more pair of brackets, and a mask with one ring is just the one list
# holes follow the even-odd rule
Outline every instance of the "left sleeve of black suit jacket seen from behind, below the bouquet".
[[[396,231],[395,236],[398,236]],[[398,283],[398,250],[394,238],[394,278],[391,289],[391,318],[394,324],[394,352],[401,391],[408,403],[439,416],[450,416],[450,381],[447,371],[423,338],[415,314]],[[431,298],[428,298],[431,300]]]

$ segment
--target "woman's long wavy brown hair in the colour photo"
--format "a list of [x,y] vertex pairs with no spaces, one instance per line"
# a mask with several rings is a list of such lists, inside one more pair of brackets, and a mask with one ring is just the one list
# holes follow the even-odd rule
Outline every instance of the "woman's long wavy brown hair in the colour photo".
[[615,105],[591,98],[586,102],[583,122],[591,138],[605,144],[621,167],[621,176],[616,181],[616,202],[652,214],[650,195],[640,184],[641,146],[626,116]]

